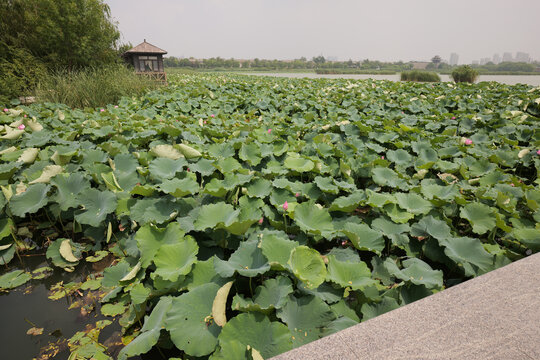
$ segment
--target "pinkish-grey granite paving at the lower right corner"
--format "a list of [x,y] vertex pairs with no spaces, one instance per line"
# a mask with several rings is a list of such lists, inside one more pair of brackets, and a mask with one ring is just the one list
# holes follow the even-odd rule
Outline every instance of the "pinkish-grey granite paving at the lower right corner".
[[274,357],[540,359],[540,254]]

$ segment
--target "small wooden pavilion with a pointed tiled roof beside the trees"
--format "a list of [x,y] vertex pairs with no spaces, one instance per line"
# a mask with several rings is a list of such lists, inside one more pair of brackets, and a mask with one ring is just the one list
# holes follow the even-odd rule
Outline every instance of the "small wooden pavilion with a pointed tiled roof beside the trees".
[[163,69],[163,55],[167,52],[146,42],[146,39],[123,54],[124,59],[133,65],[137,75],[146,76],[162,83],[167,82]]

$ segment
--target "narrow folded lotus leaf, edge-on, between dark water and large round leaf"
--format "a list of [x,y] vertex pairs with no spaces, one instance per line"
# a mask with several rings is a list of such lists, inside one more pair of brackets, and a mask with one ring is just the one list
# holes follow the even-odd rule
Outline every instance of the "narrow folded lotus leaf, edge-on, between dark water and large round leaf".
[[145,354],[157,344],[165,315],[169,311],[171,304],[172,298],[169,296],[163,296],[159,299],[150,316],[146,317],[141,333],[118,354],[119,360]]

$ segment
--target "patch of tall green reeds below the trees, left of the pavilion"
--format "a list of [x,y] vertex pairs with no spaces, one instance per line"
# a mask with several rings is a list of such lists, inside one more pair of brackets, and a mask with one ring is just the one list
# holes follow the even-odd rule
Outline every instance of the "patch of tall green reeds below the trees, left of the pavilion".
[[37,86],[40,102],[63,103],[72,108],[98,107],[118,102],[122,96],[142,95],[157,87],[123,65],[55,71]]

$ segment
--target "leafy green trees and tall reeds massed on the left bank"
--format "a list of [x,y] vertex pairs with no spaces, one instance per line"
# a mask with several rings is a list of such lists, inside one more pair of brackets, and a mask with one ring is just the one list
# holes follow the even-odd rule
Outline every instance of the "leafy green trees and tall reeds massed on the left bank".
[[106,105],[146,83],[122,69],[127,45],[102,0],[2,1],[0,13],[0,104],[37,91],[38,101]]

